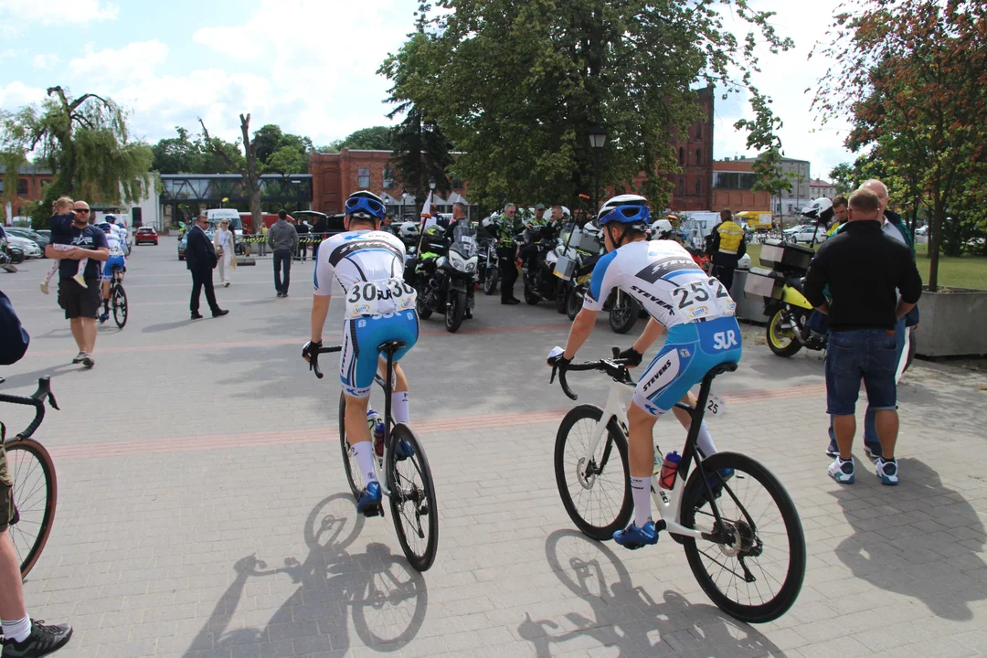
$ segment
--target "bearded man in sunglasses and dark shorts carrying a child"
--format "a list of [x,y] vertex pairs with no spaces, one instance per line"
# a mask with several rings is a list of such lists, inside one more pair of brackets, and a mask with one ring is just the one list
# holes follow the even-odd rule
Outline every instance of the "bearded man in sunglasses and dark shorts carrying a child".
[[[96,365],[93,350],[96,348],[97,319],[103,296],[99,282],[102,277],[102,263],[110,258],[110,247],[106,234],[90,224],[92,213],[85,201],[72,204],[71,231],[72,249],[60,251],[54,245],[44,248],[44,256],[58,260],[58,305],[65,310],[65,319],[72,328],[72,337],[79,347],[79,353],[72,363],[82,363],[86,368]],[[78,261],[86,259],[85,268]],[[82,269],[83,281],[76,279]]]

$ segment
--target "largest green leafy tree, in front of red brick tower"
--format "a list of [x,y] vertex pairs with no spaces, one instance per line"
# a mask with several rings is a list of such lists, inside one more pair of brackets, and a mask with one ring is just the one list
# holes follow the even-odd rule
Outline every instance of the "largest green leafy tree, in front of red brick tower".
[[[670,142],[701,115],[697,85],[746,89],[756,98],[755,45],[778,51],[792,44],[772,29],[771,13],[742,0],[435,5],[438,12],[410,37],[419,41],[415,56],[393,55],[385,74],[395,83],[392,98],[413,103],[461,151],[454,170],[470,181],[471,200],[491,204],[574,205],[593,184],[588,134],[601,123],[609,135],[601,182],[624,188],[646,172],[645,193],[665,207],[671,184],[662,175],[678,171]],[[735,37],[720,6],[755,32]]]

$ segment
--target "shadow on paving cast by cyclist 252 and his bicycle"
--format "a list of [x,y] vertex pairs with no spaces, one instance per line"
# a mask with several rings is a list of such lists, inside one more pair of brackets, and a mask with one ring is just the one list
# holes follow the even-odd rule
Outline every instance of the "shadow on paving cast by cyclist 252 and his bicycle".
[[[657,603],[644,587],[635,587],[623,562],[608,546],[571,530],[559,530],[545,543],[549,566],[573,594],[589,604],[595,619],[580,613],[565,621],[532,620],[518,634],[532,643],[539,658],[560,645],[588,635],[620,656],[665,654],[703,656],[785,656],[752,626],[733,620],[710,605],[690,604],[671,590]],[[572,629],[564,630],[564,626]],[[651,638],[655,631],[657,641]],[[585,648],[579,643],[580,648]]]

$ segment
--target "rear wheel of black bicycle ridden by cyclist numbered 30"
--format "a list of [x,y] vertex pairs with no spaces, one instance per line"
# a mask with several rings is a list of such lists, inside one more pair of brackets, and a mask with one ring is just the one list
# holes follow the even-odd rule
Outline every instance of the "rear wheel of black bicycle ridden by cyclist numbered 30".
[[[411,456],[398,459],[398,446],[411,446]],[[426,571],[438,549],[438,508],[431,469],[412,428],[398,423],[391,430],[387,478],[391,489],[394,530],[405,556],[418,571]]]

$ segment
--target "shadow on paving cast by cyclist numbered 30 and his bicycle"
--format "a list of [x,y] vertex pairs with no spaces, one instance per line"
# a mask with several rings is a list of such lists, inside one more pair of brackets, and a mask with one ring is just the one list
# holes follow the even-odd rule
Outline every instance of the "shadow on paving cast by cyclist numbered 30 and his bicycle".
[[[350,552],[363,521],[352,496],[336,494],[309,514],[305,524],[309,554],[304,561],[286,557],[283,567],[270,569],[256,555],[237,561],[236,579],[190,643],[186,657],[211,656],[216,650],[246,644],[260,644],[260,655],[271,657],[345,652],[351,644],[347,611],[357,636],[368,647],[390,652],[411,642],[428,607],[424,578],[383,544]],[[264,628],[230,629],[250,579],[275,574],[286,574],[298,589]]]

